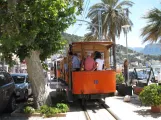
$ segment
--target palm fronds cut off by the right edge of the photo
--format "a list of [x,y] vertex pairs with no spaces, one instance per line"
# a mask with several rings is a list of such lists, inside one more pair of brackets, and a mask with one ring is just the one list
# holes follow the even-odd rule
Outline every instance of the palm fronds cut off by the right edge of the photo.
[[161,11],[157,8],[150,10],[144,17],[148,24],[142,29],[143,42],[161,43]]

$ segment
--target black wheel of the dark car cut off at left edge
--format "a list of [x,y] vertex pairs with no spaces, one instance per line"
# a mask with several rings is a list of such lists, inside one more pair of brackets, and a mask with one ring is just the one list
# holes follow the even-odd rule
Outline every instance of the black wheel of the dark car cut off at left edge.
[[7,111],[12,112],[15,109],[16,109],[16,98],[14,95],[12,95],[8,102]]

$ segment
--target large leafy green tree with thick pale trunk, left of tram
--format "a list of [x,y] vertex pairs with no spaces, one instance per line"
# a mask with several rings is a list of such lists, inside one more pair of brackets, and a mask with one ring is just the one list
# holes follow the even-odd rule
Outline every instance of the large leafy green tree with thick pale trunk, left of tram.
[[36,107],[51,104],[41,62],[62,48],[61,33],[81,10],[82,0],[0,1],[0,50],[26,60]]

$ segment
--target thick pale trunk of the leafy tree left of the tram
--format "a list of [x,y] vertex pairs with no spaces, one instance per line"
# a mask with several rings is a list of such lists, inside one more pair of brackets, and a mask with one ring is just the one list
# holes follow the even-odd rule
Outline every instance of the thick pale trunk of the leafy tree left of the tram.
[[30,57],[27,57],[27,72],[29,80],[32,84],[35,107],[39,108],[41,105],[51,105],[51,98],[49,89],[47,89],[43,68],[39,58],[38,51],[31,51]]

